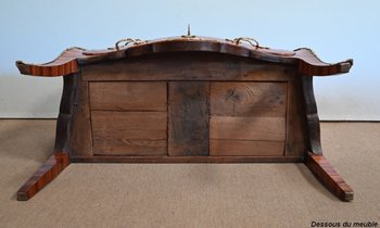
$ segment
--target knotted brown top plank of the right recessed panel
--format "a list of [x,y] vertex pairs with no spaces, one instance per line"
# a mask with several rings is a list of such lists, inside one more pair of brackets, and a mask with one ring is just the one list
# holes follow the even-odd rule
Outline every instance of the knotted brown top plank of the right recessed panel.
[[286,83],[212,83],[211,114],[284,117]]

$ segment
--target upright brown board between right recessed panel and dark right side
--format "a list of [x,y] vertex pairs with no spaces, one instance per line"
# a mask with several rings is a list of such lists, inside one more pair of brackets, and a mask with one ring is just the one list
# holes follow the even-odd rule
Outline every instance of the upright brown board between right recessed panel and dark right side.
[[286,156],[304,156],[307,124],[301,78],[288,83]]

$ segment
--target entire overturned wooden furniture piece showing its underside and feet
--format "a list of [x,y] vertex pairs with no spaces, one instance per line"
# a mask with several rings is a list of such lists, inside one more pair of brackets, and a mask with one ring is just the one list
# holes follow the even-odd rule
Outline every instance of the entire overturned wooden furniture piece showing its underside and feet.
[[304,162],[342,201],[353,190],[322,155],[313,76],[352,60],[205,37],[71,48],[22,74],[61,76],[53,155],[18,190],[28,200],[71,162]]

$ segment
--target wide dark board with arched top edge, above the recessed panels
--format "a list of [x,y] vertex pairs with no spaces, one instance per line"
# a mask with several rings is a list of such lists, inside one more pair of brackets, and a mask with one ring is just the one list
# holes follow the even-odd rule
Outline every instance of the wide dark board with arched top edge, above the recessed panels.
[[294,79],[295,66],[220,53],[162,53],[83,65],[86,80],[279,80]]

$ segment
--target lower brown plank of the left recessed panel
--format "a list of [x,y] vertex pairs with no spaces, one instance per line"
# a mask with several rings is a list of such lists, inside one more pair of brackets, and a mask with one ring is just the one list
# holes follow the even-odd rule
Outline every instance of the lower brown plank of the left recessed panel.
[[94,154],[166,155],[166,112],[92,111]]

